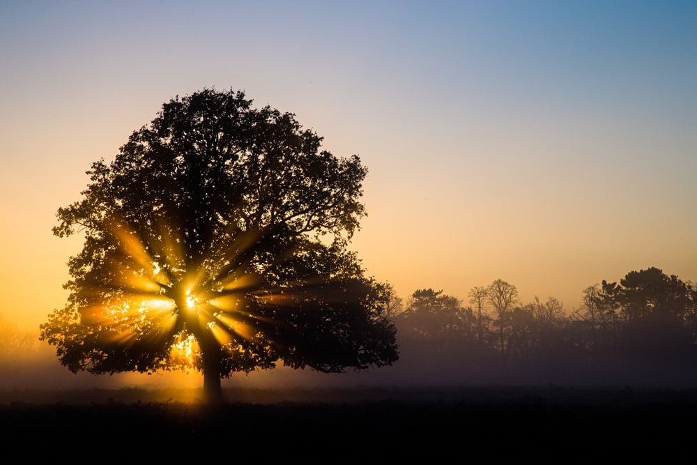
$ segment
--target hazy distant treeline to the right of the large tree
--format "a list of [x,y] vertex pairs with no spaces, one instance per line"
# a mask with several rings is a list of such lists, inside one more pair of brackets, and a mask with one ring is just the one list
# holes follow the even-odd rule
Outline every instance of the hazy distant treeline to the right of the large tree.
[[697,286],[658,268],[592,285],[569,312],[553,297],[523,303],[503,280],[475,287],[466,303],[434,289],[406,303],[392,292],[388,312],[398,371],[420,382],[697,381]]

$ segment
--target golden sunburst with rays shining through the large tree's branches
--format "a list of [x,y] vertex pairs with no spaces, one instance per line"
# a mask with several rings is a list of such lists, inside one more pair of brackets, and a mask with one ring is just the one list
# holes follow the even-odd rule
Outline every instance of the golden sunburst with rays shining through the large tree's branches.
[[[244,266],[231,266],[237,257],[204,259],[194,266],[187,263],[183,238],[171,224],[159,224],[155,234],[144,236],[124,221],[107,224],[116,249],[109,261],[112,297],[98,299],[85,315],[109,330],[112,342],[128,346],[164,337],[173,365],[188,368],[201,355],[201,340],[239,351],[263,336],[254,321],[275,324],[245,305],[270,305],[273,293]],[[255,238],[250,235],[246,247]],[[90,292],[103,296],[104,291],[94,287]]]

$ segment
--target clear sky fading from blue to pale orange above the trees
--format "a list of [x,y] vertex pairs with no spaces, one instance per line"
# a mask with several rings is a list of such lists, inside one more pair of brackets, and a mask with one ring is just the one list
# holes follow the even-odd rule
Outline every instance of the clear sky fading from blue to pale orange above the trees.
[[353,239],[401,296],[697,280],[697,3],[0,1],[0,314],[66,299],[84,171],[215,86],[369,169]]

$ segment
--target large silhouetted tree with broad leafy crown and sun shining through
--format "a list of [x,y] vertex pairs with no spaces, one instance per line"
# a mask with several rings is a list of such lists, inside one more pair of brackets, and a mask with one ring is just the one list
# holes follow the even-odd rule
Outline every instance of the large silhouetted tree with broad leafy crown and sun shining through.
[[95,162],[57,236],[84,234],[68,303],[42,326],[73,372],[192,366],[210,399],[232,372],[342,372],[397,359],[385,286],[346,244],[366,169],[245,94],[174,98]]

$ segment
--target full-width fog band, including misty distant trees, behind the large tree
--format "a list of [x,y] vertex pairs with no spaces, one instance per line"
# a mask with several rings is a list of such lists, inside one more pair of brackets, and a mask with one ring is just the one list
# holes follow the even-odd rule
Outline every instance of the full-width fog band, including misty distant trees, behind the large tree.
[[[555,298],[519,300],[497,280],[466,299],[434,289],[386,310],[398,330],[395,365],[365,372],[321,374],[276,369],[234,374],[229,388],[355,386],[636,386],[697,385],[697,288],[657,268],[583,290],[565,309]],[[36,333],[0,321],[1,390],[197,388],[195,372],[93,376],[72,374]]]

